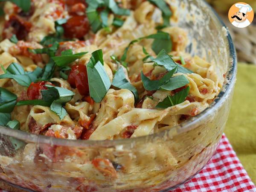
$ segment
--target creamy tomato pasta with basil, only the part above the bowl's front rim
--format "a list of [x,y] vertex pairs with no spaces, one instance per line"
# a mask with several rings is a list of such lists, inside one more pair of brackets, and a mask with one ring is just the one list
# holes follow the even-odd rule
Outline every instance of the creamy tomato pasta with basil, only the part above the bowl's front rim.
[[2,4],[1,125],[71,140],[157,133],[218,95],[214,67],[185,52],[169,1]]

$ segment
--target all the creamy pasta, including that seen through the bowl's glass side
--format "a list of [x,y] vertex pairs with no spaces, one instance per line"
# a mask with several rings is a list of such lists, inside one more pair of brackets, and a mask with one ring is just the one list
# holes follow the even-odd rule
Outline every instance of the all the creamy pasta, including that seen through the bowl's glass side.
[[[206,163],[204,149],[217,139],[195,139],[213,133],[202,128],[189,138],[203,149],[182,134],[183,143],[131,149],[50,143],[151,135],[209,107],[224,80],[187,51],[188,31],[171,24],[172,2],[0,2],[0,125],[49,138],[49,144],[1,139],[1,179],[34,191],[158,191]],[[186,153],[190,146],[196,150]]]

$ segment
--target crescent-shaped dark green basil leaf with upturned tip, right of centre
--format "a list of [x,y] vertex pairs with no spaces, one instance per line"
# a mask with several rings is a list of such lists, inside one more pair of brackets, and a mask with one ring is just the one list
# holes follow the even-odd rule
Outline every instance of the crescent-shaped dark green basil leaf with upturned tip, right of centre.
[[166,84],[169,81],[169,79],[173,76],[173,74],[176,72],[177,72],[177,66],[171,71],[169,71],[168,73],[166,73],[159,80],[150,80],[143,74],[143,72],[141,72],[140,76],[143,82],[143,86],[146,90],[158,90],[160,89],[161,86]]

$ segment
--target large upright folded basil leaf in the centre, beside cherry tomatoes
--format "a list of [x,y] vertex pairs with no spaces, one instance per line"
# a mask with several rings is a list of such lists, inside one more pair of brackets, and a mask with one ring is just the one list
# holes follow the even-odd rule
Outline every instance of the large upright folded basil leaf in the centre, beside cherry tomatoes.
[[103,64],[102,49],[99,49],[92,53],[86,66],[90,97],[97,103],[102,101],[111,86],[111,81]]

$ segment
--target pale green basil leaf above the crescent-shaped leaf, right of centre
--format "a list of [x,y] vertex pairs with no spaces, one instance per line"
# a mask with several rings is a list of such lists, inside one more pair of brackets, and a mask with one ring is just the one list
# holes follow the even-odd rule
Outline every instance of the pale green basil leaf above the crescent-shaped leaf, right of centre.
[[165,67],[167,71],[170,71],[174,67],[178,66],[177,73],[193,73],[191,70],[176,64],[172,57],[168,55],[164,49],[160,51],[160,53],[157,55],[157,58],[153,59],[152,61],[159,66]]

